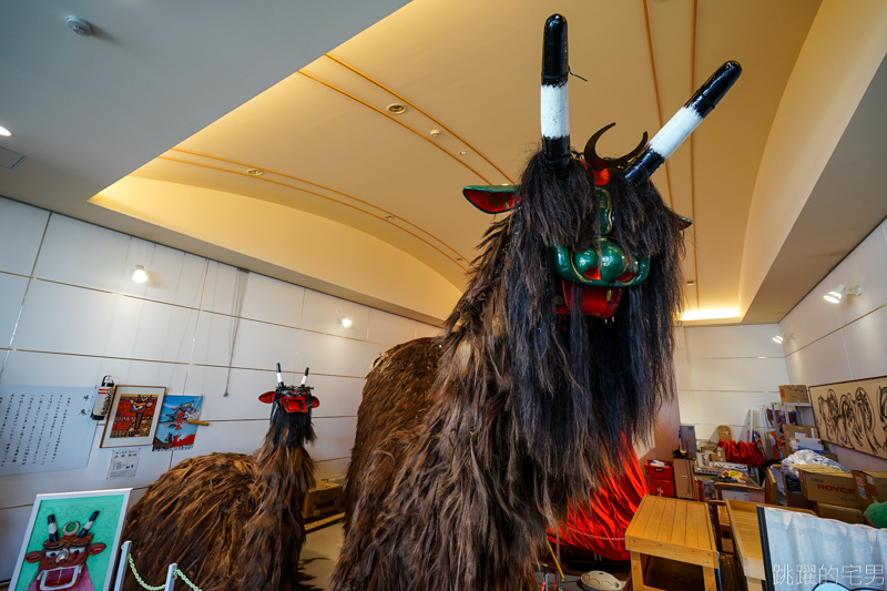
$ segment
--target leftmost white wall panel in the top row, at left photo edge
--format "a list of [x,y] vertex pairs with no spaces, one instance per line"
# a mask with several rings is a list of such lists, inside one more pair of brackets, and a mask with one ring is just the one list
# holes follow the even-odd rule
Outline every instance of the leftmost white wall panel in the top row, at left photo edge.
[[49,212],[0,198],[0,271],[30,275]]

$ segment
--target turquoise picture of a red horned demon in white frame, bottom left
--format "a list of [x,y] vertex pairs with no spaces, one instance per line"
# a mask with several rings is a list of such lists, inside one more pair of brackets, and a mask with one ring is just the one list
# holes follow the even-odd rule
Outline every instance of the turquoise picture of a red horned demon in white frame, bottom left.
[[10,591],[108,591],[132,489],[38,495]]

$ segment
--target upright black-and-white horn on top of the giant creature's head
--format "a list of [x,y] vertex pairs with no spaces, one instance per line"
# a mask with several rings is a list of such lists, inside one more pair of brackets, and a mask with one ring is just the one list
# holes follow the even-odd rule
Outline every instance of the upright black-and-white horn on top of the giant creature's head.
[[567,19],[552,14],[546,21],[542,43],[542,146],[546,160],[565,170],[570,163],[570,98],[567,77]]

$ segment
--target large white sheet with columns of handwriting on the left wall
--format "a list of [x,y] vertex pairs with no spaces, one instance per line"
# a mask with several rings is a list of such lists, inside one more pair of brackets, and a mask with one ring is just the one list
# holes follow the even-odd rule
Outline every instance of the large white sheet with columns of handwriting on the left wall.
[[85,468],[93,388],[0,386],[0,476]]

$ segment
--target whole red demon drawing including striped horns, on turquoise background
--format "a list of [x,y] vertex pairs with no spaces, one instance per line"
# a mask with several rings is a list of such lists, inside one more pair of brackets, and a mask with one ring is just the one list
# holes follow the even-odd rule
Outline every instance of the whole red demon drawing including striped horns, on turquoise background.
[[78,521],[69,521],[62,528],[61,538],[55,516],[49,516],[49,538],[43,542],[43,550],[24,554],[26,562],[38,563],[37,577],[28,591],[94,591],[86,558],[106,548],[103,543],[92,543],[90,528],[98,514],[99,511],[93,512],[82,529]]

